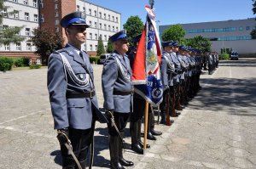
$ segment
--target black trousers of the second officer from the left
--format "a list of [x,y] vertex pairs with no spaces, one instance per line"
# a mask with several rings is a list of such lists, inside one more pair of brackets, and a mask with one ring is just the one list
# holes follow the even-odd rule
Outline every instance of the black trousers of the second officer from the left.
[[[125,132],[125,127],[130,117],[130,114],[131,113],[113,112],[114,123],[118,127],[120,133]],[[119,136],[115,128],[111,126],[111,123],[108,123],[108,133],[111,136]]]

